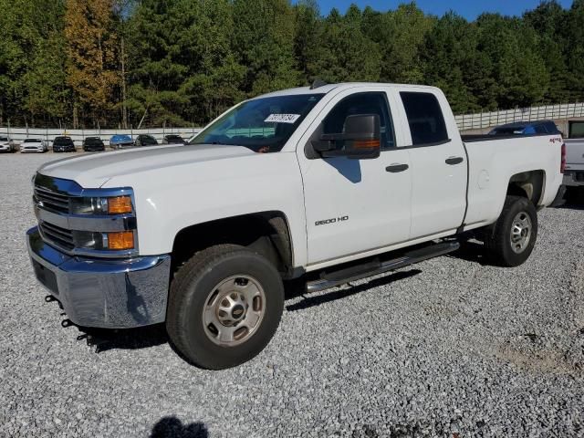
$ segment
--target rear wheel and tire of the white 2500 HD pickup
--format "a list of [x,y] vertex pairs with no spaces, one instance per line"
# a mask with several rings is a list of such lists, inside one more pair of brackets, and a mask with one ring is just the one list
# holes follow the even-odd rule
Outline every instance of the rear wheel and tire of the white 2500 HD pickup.
[[536,207],[527,198],[507,196],[501,215],[494,225],[485,230],[484,237],[486,255],[492,264],[508,267],[522,265],[536,245]]

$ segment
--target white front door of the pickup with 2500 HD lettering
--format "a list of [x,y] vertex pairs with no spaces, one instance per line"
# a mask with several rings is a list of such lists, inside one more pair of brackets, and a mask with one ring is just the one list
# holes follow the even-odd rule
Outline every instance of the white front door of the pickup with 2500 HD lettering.
[[410,236],[410,155],[396,148],[384,89],[372,86],[359,93],[339,93],[308,130],[308,142],[322,133],[342,132],[346,118],[357,114],[380,116],[379,158],[308,158],[309,144],[297,148],[305,191],[308,266],[349,259]]

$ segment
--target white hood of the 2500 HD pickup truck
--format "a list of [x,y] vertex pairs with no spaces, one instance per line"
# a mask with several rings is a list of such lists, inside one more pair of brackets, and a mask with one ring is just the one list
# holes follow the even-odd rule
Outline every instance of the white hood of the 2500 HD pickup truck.
[[226,145],[164,145],[127,151],[101,152],[48,162],[38,172],[72,180],[84,188],[99,188],[116,176],[147,172],[197,162],[225,160],[255,155],[242,146]]

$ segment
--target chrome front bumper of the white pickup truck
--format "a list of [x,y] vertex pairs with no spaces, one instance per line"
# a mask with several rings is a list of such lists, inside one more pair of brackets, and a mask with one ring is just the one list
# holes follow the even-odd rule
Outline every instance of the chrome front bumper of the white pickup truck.
[[26,232],[38,281],[82,327],[133,328],[163,322],[170,255],[98,259],[66,255],[47,245],[38,227]]

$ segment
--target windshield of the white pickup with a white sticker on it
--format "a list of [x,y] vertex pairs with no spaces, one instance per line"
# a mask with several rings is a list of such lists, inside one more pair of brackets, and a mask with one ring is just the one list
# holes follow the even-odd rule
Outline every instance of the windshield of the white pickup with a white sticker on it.
[[215,120],[189,144],[229,144],[255,152],[281,151],[323,94],[248,100]]

